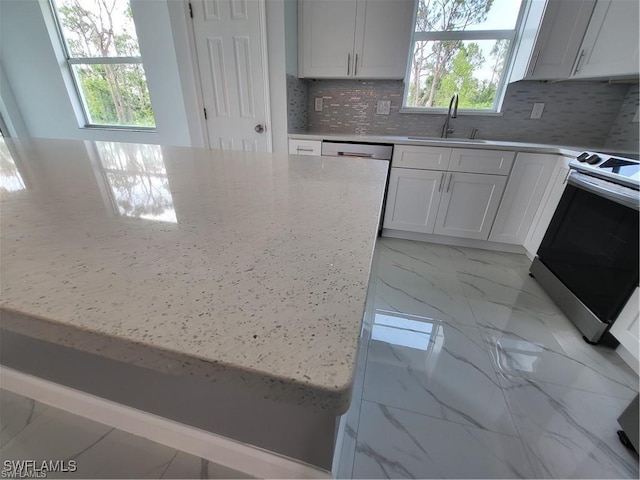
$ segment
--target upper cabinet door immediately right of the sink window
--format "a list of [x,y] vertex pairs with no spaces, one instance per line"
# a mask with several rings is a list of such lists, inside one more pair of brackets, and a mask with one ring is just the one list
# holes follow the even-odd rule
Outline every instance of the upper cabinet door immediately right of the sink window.
[[527,79],[569,78],[595,4],[595,0],[549,0]]

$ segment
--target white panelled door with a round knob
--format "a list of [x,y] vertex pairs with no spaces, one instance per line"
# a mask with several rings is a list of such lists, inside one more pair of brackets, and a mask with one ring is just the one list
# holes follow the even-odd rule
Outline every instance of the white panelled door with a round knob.
[[264,0],[191,0],[209,147],[271,151]]

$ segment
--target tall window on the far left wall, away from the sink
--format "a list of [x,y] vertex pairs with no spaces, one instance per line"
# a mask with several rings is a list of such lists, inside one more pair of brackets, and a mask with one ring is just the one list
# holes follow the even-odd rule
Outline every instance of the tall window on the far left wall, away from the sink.
[[154,128],[127,0],[51,0],[88,126]]

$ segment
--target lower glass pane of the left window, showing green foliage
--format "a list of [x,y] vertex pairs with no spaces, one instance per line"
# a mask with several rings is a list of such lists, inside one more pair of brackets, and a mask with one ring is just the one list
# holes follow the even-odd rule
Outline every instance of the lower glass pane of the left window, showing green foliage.
[[155,127],[141,63],[75,64],[91,125]]

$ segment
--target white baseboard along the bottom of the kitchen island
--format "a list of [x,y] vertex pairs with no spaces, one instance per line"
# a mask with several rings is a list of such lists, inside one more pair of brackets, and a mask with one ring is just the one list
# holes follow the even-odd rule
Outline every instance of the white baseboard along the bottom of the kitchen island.
[[0,366],[0,386],[257,478],[332,478],[273,452]]

